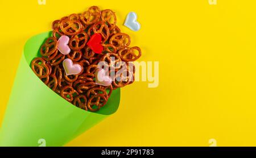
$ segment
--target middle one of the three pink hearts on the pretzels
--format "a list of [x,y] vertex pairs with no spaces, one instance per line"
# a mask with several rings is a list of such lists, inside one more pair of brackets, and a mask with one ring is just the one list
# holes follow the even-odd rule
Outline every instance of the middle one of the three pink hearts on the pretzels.
[[80,64],[73,64],[71,59],[65,59],[63,61],[63,68],[65,69],[67,76],[79,74],[82,71],[82,66]]

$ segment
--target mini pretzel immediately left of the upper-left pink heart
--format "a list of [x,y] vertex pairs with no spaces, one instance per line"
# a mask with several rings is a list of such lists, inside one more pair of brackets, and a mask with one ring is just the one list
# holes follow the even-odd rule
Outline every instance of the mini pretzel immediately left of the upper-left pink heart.
[[57,50],[57,39],[56,38],[48,38],[46,42],[40,48],[40,53],[44,57],[48,57],[55,53]]

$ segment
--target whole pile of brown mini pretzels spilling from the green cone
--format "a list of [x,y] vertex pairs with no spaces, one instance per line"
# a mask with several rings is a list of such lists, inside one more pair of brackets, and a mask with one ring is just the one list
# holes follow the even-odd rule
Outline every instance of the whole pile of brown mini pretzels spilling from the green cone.
[[[97,6],[90,7],[82,14],[71,14],[52,23],[52,37],[48,38],[40,48],[42,57],[36,57],[31,62],[31,68],[49,88],[61,95],[73,105],[84,110],[98,111],[106,105],[112,91],[132,84],[135,68],[131,68],[132,61],[141,57],[139,47],[129,47],[130,36],[121,32],[116,26],[117,18],[112,10],[100,10]],[[93,34],[101,34],[104,51],[94,53],[86,43]],[[57,49],[60,36],[69,36],[71,52],[63,55]],[[111,57],[115,57],[111,61]],[[63,60],[71,59],[74,64],[82,66],[82,72],[70,75],[64,71]],[[127,69],[119,70],[123,65],[115,66],[114,72],[126,73],[122,80],[113,78],[112,85],[101,86],[95,82],[95,74],[100,61],[109,64],[109,68],[120,61],[125,61]],[[122,76],[122,74],[119,74]],[[125,78],[125,79],[124,79]],[[132,80],[131,80],[132,79]]]

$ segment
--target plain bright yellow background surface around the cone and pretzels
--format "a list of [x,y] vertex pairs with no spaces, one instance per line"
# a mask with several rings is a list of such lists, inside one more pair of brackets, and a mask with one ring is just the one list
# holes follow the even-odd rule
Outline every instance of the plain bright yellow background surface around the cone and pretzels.
[[[159,86],[123,88],[117,113],[67,146],[255,146],[256,1],[217,2],[0,0],[0,120],[26,40],[98,5],[117,13],[140,61],[159,61]],[[141,31],[122,25],[130,11]]]

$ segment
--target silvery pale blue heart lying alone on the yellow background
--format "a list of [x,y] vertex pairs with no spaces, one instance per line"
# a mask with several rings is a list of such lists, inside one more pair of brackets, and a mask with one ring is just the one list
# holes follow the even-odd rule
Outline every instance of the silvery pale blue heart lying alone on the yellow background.
[[130,28],[133,31],[139,31],[141,29],[141,24],[137,22],[137,14],[134,12],[130,12],[127,15],[125,26]]

